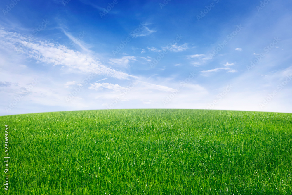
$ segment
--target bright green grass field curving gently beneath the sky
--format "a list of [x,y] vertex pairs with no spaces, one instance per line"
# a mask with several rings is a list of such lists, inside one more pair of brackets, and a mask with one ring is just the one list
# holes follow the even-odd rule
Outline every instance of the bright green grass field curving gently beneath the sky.
[[0,194],[292,194],[292,114],[97,110],[0,117]]

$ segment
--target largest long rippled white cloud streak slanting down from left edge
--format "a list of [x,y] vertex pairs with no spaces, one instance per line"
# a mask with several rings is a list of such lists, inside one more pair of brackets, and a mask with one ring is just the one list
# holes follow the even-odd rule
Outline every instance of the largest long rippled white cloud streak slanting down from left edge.
[[127,73],[108,68],[89,54],[67,48],[48,41],[29,39],[27,36],[0,29],[0,44],[14,49],[20,54],[33,58],[37,63],[61,65],[83,73],[95,72],[118,79],[137,78]]

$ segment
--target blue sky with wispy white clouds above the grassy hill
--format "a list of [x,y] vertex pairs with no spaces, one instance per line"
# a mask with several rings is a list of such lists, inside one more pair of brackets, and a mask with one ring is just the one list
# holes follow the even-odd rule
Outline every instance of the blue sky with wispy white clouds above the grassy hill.
[[291,1],[2,0],[0,9],[0,115],[292,113]]

